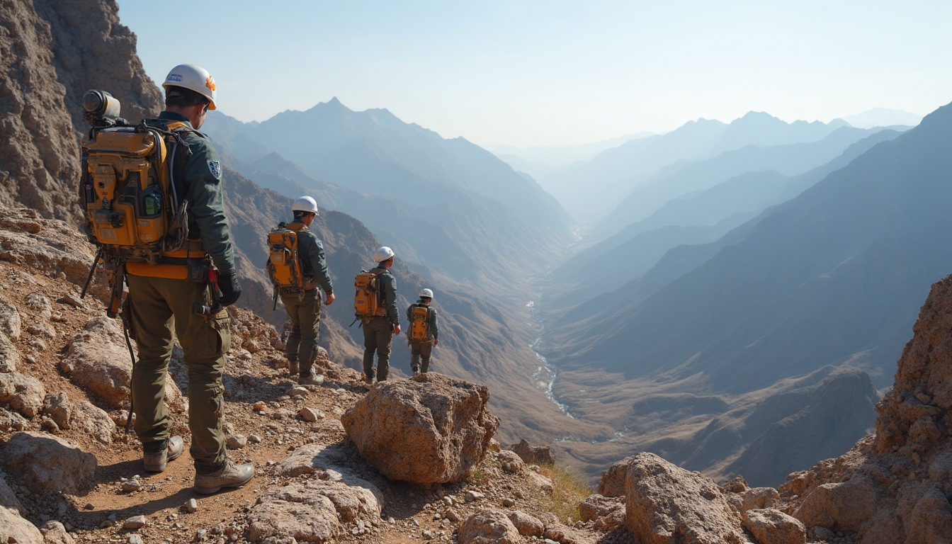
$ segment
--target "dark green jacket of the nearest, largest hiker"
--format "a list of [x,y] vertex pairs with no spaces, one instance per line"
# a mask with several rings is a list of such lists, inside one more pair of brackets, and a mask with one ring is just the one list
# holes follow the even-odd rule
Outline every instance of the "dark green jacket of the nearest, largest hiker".
[[[163,111],[157,119],[149,119],[147,123],[164,125],[169,121],[182,121],[191,129],[191,123],[185,115],[172,111]],[[174,165],[173,171],[177,178],[175,186],[178,197],[181,199],[185,194],[188,200],[188,238],[202,240],[202,245],[211,255],[218,272],[233,272],[235,254],[228,229],[228,218],[225,216],[222,163],[218,158],[218,151],[211,146],[208,136],[201,132],[188,130],[180,133],[191,151],[191,156],[176,153],[176,161],[180,157],[184,157],[185,161],[184,165]]]

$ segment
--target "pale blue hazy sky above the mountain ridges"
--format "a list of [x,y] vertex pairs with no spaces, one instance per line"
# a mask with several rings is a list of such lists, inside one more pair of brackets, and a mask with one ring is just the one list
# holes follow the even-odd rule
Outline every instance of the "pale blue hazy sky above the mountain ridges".
[[153,80],[201,65],[243,121],[337,96],[526,147],[952,101],[949,0],[118,1]]

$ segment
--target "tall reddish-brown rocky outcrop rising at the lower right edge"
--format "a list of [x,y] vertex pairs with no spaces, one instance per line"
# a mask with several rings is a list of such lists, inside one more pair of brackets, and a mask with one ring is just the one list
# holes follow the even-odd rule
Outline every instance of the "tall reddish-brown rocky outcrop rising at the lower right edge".
[[784,510],[818,536],[952,541],[952,276],[932,286],[913,332],[895,385],[876,407],[875,437],[790,474],[780,488]]

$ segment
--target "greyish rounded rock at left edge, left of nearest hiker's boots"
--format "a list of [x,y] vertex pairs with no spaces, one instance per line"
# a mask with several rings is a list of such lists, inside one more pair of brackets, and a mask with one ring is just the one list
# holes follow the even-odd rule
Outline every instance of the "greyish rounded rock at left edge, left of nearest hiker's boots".
[[45,433],[13,434],[2,460],[18,483],[36,491],[75,493],[96,471],[95,455]]

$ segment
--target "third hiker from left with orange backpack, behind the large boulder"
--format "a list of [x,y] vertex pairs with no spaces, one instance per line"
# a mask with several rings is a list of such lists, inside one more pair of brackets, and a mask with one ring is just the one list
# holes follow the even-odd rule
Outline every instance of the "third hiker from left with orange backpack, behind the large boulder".
[[[373,253],[377,267],[357,274],[354,285],[354,310],[364,329],[364,381],[367,384],[387,380],[390,368],[390,344],[400,333],[397,311],[397,279],[390,273],[393,251],[384,246]],[[373,354],[377,353],[377,372],[373,370]]]

